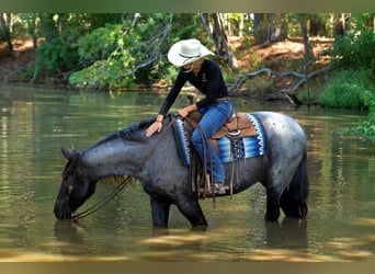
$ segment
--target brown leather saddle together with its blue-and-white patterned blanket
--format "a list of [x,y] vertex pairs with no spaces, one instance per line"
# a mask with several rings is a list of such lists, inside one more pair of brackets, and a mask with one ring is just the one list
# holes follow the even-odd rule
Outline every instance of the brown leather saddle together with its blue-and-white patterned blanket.
[[[196,121],[198,117],[191,117]],[[185,121],[175,117],[175,139],[182,163],[191,164],[192,128]],[[266,153],[265,135],[258,118],[252,114],[236,114],[209,139],[223,163],[264,156]]]

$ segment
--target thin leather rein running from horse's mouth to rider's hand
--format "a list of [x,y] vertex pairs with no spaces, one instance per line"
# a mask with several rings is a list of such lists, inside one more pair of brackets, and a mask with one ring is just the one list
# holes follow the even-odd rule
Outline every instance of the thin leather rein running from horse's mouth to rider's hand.
[[[161,140],[162,137],[164,137],[164,135],[167,134],[167,132],[171,128],[171,126],[173,125],[175,121],[175,117],[173,116],[171,118],[171,122],[168,124],[166,130],[162,130],[161,134],[159,135],[157,141],[155,142],[155,145],[152,146],[152,148],[149,150],[149,152],[146,155],[146,157],[144,158],[141,164],[138,167],[138,169],[136,169],[135,172],[133,172],[132,175],[127,175],[124,178],[124,180],[116,186],[116,189],[114,189],[107,196],[105,196],[103,199],[99,201],[98,203],[93,204],[91,207],[89,207],[88,209],[73,215],[70,219],[72,221],[78,221],[79,219],[82,219],[95,212],[98,212],[99,209],[103,208],[107,203],[110,203],[110,201],[112,201],[112,198],[114,198],[127,184],[128,182],[134,178],[134,175],[139,172],[146,164],[146,162],[150,159],[150,157],[152,156],[155,149],[157,148],[157,145],[159,144],[159,141]],[[70,193],[72,191],[72,186],[69,186],[71,189],[69,189],[69,195],[67,197],[67,199],[69,199]]]

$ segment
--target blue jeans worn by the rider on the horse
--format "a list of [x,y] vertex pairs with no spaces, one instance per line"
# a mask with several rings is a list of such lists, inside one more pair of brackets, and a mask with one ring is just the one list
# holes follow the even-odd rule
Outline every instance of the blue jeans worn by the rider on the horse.
[[[192,144],[202,163],[206,163],[207,171],[212,173],[214,183],[224,181],[225,170],[217,152],[208,142],[212,137],[230,117],[232,107],[229,101],[218,101],[217,104],[201,109],[203,114],[198,127],[192,134]],[[200,132],[204,132],[202,136]],[[207,138],[207,139],[206,139]]]

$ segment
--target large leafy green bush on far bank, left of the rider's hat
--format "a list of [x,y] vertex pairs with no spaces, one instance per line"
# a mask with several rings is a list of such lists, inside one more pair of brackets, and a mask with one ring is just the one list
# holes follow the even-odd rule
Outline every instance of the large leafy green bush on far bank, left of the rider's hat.
[[[202,34],[197,23],[201,19],[194,14],[134,14],[123,20],[122,24],[107,24],[79,39],[82,69],[70,76],[70,84],[121,89],[160,79],[171,82],[177,68],[164,56],[169,46],[181,38]],[[171,20],[171,28],[166,33]]]

